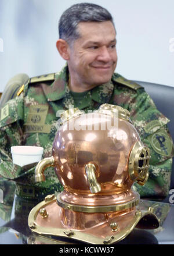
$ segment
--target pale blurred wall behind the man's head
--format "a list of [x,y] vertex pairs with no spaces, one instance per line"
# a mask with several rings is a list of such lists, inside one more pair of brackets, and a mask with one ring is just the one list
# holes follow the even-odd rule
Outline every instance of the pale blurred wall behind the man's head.
[[117,73],[174,86],[173,0],[0,0],[0,91],[17,73],[32,77],[61,69],[58,20],[79,2],[102,5],[113,15]]

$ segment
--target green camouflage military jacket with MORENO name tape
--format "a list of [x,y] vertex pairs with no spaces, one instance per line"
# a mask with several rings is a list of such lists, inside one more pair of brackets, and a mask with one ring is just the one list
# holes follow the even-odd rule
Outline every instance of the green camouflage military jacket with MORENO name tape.
[[57,111],[74,105],[87,112],[109,103],[131,112],[133,125],[144,145],[150,148],[148,181],[143,187],[133,185],[134,189],[146,198],[168,195],[174,155],[167,127],[169,119],[157,110],[144,88],[114,73],[107,84],[79,93],[78,100],[74,95],[68,88],[68,67],[65,66],[59,73],[32,77],[21,87],[19,96],[3,106],[0,120],[0,175],[15,180],[17,193],[24,197],[44,197],[45,194],[61,191],[63,188],[53,168],[45,171],[46,182],[35,183],[34,167],[13,166],[10,147],[37,145],[44,147],[44,158],[50,157],[57,131]]

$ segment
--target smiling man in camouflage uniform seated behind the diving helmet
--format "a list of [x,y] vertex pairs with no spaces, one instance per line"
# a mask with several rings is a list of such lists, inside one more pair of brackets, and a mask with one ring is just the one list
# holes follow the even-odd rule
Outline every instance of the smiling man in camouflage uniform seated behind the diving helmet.
[[164,198],[173,157],[169,120],[139,84],[114,73],[116,31],[110,13],[92,3],[73,5],[60,18],[59,36],[56,47],[67,65],[59,73],[29,79],[1,109],[1,175],[16,180],[17,193],[24,197],[60,191],[53,169],[46,170],[46,182],[34,183],[34,168],[12,167],[10,146],[38,145],[44,147],[44,157],[50,157],[57,111],[74,105],[87,112],[109,103],[131,112],[133,125],[151,151],[149,179],[135,189],[142,197]]

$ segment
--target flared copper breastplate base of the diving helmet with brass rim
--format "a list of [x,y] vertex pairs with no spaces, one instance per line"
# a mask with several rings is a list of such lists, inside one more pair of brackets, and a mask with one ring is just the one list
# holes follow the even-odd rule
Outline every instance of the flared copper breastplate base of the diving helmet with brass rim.
[[[38,213],[44,207],[48,218]],[[34,222],[33,222],[34,221]],[[30,212],[28,223],[38,234],[52,234],[91,244],[111,244],[124,239],[137,225],[154,229],[159,226],[157,217],[151,212],[140,212],[135,207],[108,214],[85,214],[64,210],[53,200],[41,202]],[[113,227],[117,227],[114,228]]]

